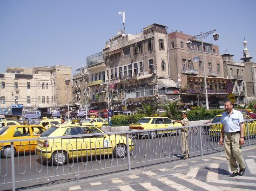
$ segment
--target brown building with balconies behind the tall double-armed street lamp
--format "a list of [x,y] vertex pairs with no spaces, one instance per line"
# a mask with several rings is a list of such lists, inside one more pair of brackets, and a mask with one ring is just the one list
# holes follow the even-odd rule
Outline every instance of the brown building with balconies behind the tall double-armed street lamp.
[[227,98],[226,79],[223,74],[222,56],[219,47],[210,43],[192,40],[192,47],[186,44],[192,36],[182,32],[168,34],[171,79],[180,84],[182,102],[189,105],[204,105],[204,67],[208,90],[209,108],[219,108]]

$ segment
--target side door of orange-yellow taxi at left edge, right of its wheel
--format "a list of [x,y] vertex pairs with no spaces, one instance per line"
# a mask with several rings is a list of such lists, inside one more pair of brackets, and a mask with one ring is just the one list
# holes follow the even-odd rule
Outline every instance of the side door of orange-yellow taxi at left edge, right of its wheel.
[[[29,126],[24,126],[24,127],[16,127],[14,130],[13,134],[13,139],[29,139],[33,138],[31,135]],[[14,145],[17,146],[18,150],[20,152],[29,151],[29,148],[32,149],[34,145],[34,141],[29,141],[29,140],[23,140],[19,142],[14,142]]]

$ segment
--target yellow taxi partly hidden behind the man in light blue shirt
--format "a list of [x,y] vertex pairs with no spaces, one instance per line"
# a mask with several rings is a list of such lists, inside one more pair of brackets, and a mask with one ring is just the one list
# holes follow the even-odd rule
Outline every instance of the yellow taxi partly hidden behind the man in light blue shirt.
[[[222,115],[216,115],[211,123],[220,123],[221,122]],[[248,115],[243,114],[243,119],[244,120],[250,120],[251,117]],[[246,125],[246,123],[245,123]],[[256,121],[249,121],[249,134],[252,136],[256,136]],[[216,125],[210,125],[209,127],[209,135],[210,136],[220,136],[221,134],[221,129],[222,129],[222,124],[216,124]],[[247,128],[246,126],[244,127],[244,137],[247,137]]]

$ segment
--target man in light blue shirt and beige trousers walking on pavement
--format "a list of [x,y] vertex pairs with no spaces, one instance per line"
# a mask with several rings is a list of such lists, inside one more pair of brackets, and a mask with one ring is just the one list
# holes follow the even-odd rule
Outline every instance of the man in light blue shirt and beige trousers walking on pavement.
[[[236,175],[243,176],[245,171],[245,162],[241,154],[241,148],[244,144],[244,120],[243,114],[233,108],[233,104],[228,100],[225,102],[225,110],[222,114],[221,124],[221,137],[220,145],[224,147],[226,158],[229,162],[229,167],[232,173],[229,177],[235,177]],[[239,164],[239,172],[238,165]]]

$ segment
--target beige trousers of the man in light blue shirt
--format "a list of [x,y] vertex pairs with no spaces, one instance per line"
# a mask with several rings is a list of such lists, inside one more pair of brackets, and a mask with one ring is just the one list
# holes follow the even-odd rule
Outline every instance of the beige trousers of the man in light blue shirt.
[[239,143],[240,134],[239,133],[225,133],[224,138],[224,146],[226,158],[229,162],[229,167],[232,172],[238,172],[238,166],[236,162],[239,164],[240,169],[245,168],[245,163],[243,156],[241,154],[242,146]]

